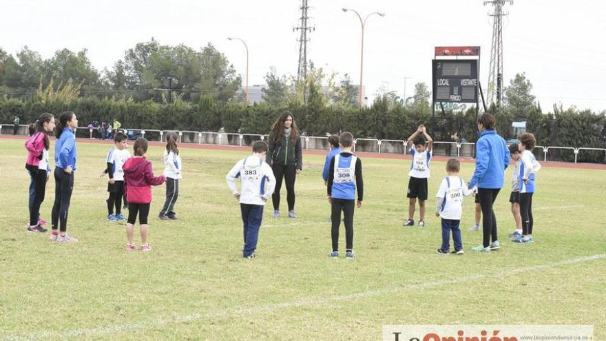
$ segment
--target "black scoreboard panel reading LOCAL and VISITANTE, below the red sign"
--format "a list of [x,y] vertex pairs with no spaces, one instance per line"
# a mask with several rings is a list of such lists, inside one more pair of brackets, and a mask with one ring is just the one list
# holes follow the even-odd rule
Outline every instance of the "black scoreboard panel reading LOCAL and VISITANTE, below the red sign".
[[433,59],[434,103],[477,103],[477,59]]

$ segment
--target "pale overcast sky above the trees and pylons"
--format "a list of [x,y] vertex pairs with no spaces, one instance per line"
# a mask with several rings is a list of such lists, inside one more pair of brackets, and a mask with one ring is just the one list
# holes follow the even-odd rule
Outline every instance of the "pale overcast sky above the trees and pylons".
[[[360,23],[353,12],[372,16],[364,31],[366,94],[383,87],[412,96],[414,84],[431,85],[435,46],[480,46],[480,81],[488,83],[491,6],[482,0],[308,0],[308,56],[337,79],[359,83]],[[0,0],[0,48],[23,46],[50,58],[56,50],[88,50],[97,70],[112,68],[125,50],[154,37],[163,45],[207,43],[233,63],[243,81],[244,46],[250,53],[250,85],[264,83],[271,67],[296,74],[300,0],[67,1]],[[543,111],[606,110],[606,1],[515,0],[503,19],[504,85],[525,72]]]

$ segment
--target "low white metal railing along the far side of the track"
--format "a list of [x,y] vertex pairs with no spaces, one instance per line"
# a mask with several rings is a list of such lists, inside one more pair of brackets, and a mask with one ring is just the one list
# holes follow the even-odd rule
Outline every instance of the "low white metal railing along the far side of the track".
[[[0,125],[0,134],[12,135],[14,126],[12,124]],[[138,136],[147,138],[148,141],[163,142],[166,141],[166,134],[175,132],[179,136],[179,143],[189,143],[196,145],[226,145],[226,146],[250,146],[255,141],[267,141],[268,135],[264,134],[239,134],[225,132],[194,132],[189,130],[150,130],[150,129],[120,129],[125,133],[129,140],[134,140]],[[18,135],[28,134],[28,125],[19,125]],[[79,138],[98,138],[98,132],[92,132],[88,127],[78,127],[76,137]],[[328,150],[327,136],[300,136],[303,149]],[[378,154],[406,154],[406,141],[403,140],[379,140],[377,138],[356,138],[354,151],[371,152]],[[537,160],[543,161],[564,161],[577,163],[579,159],[593,157],[598,159],[599,163],[606,162],[606,148],[592,147],[565,147],[565,146],[541,146],[537,145],[532,151]],[[475,143],[457,143],[434,141],[434,155],[437,156],[457,156],[474,157]]]

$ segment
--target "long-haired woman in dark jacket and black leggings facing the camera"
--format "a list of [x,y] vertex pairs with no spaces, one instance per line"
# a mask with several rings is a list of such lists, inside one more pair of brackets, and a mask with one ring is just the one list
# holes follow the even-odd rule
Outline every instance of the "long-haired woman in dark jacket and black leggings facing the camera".
[[286,201],[289,203],[289,218],[295,214],[295,178],[303,168],[303,154],[297,123],[290,112],[283,112],[271,127],[269,150],[265,161],[271,165],[275,176],[273,218],[280,216],[280,189],[282,178],[286,181]]

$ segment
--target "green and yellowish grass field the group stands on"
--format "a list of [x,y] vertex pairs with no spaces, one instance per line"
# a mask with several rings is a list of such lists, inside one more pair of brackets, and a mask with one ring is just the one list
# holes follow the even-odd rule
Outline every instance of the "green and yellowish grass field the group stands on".
[[[594,324],[595,339],[606,340],[603,171],[541,169],[530,245],[505,238],[514,223],[503,189],[495,203],[503,248],[492,254],[470,251],[481,234],[467,231],[466,199],[466,254],[439,256],[432,196],[445,164],[432,163],[428,226],[405,228],[410,161],[364,158],[357,259],[332,260],[324,157],[305,156],[300,218],[273,219],[269,204],[258,257],[244,260],[240,209],[224,176],[247,152],[182,148],[181,220],[157,218],[165,187],[154,188],[154,250],[143,253],[125,251],[124,224],[105,220],[98,174],[112,145],[79,143],[68,231],[80,242],[59,245],[25,232],[23,141],[0,140],[0,340],[379,340],[384,324]],[[161,153],[148,153],[157,174]],[[473,166],[462,167],[467,180]],[[51,179],[47,220],[53,199]],[[341,240],[344,249],[344,230]]]

